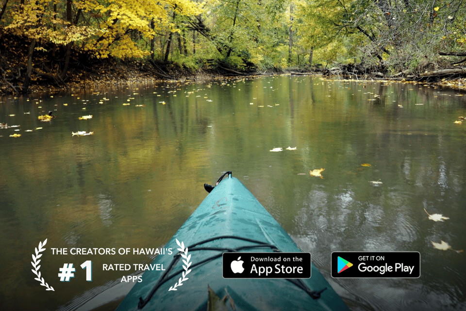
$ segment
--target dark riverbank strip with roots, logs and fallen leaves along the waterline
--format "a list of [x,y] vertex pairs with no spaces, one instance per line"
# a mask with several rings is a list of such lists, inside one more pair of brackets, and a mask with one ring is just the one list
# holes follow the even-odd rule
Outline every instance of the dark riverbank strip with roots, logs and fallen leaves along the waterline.
[[[307,67],[271,69],[264,72],[253,68],[231,68],[218,60],[198,60],[186,67],[174,62],[120,60],[98,58],[90,52],[70,49],[67,61],[65,48],[42,44],[32,54],[28,66],[28,40],[7,32],[0,34],[0,94],[60,92],[113,87],[127,84],[153,84],[164,81],[207,81],[231,76],[259,76],[271,74],[323,74],[329,79],[388,80],[399,82],[429,82],[439,86],[466,90],[466,78],[461,74],[422,78],[422,74],[386,76],[380,68],[360,65],[341,65],[334,68]],[[25,87],[28,72],[30,79]],[[363,72],[363,73],[361,73]]]

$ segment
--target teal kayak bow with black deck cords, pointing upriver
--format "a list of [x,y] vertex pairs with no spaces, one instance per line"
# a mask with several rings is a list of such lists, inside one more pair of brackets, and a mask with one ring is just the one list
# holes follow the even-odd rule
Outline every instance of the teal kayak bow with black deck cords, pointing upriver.
[[314,264],[309,278],[224,278],[223,253],[301,250],[231,172],[205,188],[210,193],[117,311],[349,310]]

